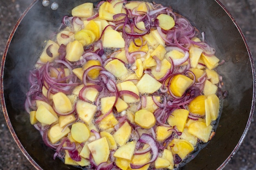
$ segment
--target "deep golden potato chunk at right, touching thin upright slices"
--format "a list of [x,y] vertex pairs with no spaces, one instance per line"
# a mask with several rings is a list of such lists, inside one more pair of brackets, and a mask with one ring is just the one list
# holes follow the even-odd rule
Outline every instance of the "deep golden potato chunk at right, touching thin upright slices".
[[189,104],[189,111],[196,115],[205,115],[205,105],[204,100],[206,99],[205,95],[199,95],[195,97]]

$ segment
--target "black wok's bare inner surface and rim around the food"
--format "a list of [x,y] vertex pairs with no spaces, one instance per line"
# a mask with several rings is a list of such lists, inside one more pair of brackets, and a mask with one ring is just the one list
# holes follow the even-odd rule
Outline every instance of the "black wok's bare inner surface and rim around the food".
[[[35,0],[16,24],[7,42],[1,64],[1,102],[7,124],[19,148],[38,170],[75,170],[60,159],[53,160],[54,150],[43,144],[39,132],[31,126],[25,112],[28,75],[43,42],[52,38],[64,15],[84,2],[94,0],[56,0],[57,11]],[[218,0],[155,0],[173,9],[204,31],[207,42],[225,64],[218,68],[223,75],[228,96],[216,135],[182,170],[220,170],[242,143],[255,107],[255,68],[252,54],[239,26]]]

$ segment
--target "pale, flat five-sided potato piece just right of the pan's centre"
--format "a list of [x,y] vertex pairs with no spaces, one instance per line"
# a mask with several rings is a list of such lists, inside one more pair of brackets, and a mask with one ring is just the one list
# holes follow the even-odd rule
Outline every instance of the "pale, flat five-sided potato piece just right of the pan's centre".
[[149,74],[144,74],[136,86],[140,93],[154,93],[162,86],[162,84]]

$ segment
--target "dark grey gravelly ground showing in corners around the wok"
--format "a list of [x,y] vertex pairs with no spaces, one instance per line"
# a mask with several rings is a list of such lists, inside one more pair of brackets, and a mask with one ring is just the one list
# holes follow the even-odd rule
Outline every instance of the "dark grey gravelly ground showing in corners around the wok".
[[[32,0],[0,0],[0,56],[9,34],[20,15]],[[256,1],[255,0],[220,0],[234,16],[243,30],[256,61]],[[0,110],[0,170],[35,169],[19,150],[7,127]],[[238,152],[224,170],[256,170],[256,114],[247,136]]]

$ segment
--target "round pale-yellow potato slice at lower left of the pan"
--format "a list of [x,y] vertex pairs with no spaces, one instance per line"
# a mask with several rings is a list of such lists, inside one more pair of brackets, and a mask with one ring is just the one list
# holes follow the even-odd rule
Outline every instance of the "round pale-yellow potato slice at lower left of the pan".
[[82,143],[90,137],[90,130],[85,124],[76,122],[72,124],[71,136],[75,141]]

